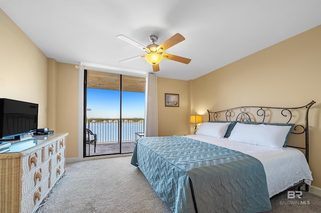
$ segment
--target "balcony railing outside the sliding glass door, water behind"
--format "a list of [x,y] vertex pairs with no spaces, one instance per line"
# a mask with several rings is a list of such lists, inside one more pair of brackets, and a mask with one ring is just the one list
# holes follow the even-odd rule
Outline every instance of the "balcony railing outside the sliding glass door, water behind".
[[[121,127],[121,128],[120,128]],[[87,119],[86,128],[97,135],[97,143],[135,140],[135,132],[144,131],[144,119]]]

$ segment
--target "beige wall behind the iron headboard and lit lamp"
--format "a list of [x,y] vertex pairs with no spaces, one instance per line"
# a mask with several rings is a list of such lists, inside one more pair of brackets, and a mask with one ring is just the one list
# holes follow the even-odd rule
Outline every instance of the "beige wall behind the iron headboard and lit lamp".
[[321,187],[321,25],[191,80],[191,112],[240,105],[295,107],[309,116],[312,185]]

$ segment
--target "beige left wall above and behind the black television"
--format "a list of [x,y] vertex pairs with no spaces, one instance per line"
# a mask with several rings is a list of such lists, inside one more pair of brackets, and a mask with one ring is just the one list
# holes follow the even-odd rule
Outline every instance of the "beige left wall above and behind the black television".
[[0,8],[0,97],[39,104],[47,125],[47,57]]

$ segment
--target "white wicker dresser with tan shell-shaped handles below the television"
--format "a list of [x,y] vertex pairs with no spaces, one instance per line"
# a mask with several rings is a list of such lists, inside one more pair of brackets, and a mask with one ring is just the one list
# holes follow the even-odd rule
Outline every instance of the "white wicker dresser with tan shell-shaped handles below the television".
[[68,133],[33,136],[0,153],[0,212],[34,212],[65,174]]

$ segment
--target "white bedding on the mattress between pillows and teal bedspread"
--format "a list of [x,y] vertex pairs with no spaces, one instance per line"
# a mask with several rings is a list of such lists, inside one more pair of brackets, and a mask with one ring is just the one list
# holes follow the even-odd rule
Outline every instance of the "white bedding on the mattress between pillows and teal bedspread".
[[298,149],[291,147],[269,148],[235,142],[227,138],[198,134],[186,135],[185,137],[240,151],[260,160],[265,170],[270,197],[293,186],[302,179],[308,185],[311,185],[311,180],[313,180],[305,156]]

